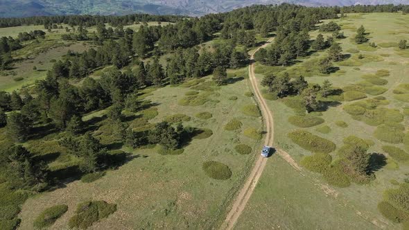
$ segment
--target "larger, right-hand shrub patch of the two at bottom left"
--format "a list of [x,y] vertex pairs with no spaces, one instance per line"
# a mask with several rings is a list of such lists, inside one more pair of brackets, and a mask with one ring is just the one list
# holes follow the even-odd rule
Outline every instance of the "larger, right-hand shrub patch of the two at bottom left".
[[105,201],[83,202],[78,204],[76,215],[69,219],[68,226],[78,229],[87,229],[94,222],[107,218],[116,211],[116,204],[108,204]]

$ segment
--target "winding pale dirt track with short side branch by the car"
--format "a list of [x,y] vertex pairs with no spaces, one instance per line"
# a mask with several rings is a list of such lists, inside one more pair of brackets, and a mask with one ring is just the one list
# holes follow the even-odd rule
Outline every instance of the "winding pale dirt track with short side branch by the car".
[[[261,95],[261,91],[259,89],[259,84],[256,80],[256,74],[254,73],[254,53],[259,51],[260,48],[266,47],[270,42],[272,42],[273,38],[269,39],[266,44],[260,46],[255,51],[252,52],[250,60],[251,64],[249,66],[249,77],[250,82],[252,84],[252,88],[254,90],[254,95],[256,96],[256,100],[259,103],[259,107],[263,114],[263,119],[266,121],[266,141],[264,145],[272,146],[274,143],[274,121],[272,117],[272,112],[268,108],[266,100],[264,100],[263,96]],[[295,170],[300,171],[301,168],[297,165],[294,159],[283,150],[277,149],[277,154],[282,157],[285,161],[287,161]],[[252,195],[254,188],[256,187],[257,182],[261,177],[261,174],[266,167],[267,159],[258,155],[256,162],[252,171],[250,172],[250,176],[247,178],[243,188],[238,193],[236,200],[232,205],[232,210],[226,216],[225,222],[223,222],[221,229],[232,229],[234,224],[237,222],[238,217],[240,217],[241,213],[243,212],[245,205],[247,204],[248,200],[250,200],[250,196]]]

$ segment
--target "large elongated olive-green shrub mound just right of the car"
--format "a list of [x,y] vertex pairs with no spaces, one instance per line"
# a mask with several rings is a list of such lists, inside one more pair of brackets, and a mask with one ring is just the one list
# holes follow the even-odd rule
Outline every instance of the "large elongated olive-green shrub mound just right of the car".
[[336,149],[336,144],[332,141],[315,136],[304,130],[290,132],[288,137],[297,145],[311,152],[329,153]]

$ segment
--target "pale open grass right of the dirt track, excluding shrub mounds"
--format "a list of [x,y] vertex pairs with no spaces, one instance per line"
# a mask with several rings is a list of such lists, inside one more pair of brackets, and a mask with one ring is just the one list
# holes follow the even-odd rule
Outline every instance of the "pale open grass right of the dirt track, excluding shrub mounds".
[[[315,73],[302,73],[308,77],[310,83],[320,83],[326,79],[333,82],[334,87],[345,87],[347,85],[363,84],[362,78],[365,74],[376,74],[379,70],[388,70],[390,76],[383,77],[388,80],[385,93],[381,94],[388,103],[384,102],[378,107],[388,109],[398,109],[403,114],[403,107],[407,104],[396,100],[394,89],[402,83],[408,83],[406,76],[409,74],[409,58],[406,53],[399,51],[396,47],[382,48],[396,43],[401,39],[409,39],[408,23],[409,16],[401,14],[360,14],[349,15],[345,19],[334,20],[342,26],[345,39],[340,39],[344,53],[350,53],[354,59],[356,50],[367,59],[365,62],[356,62],[351,66],[340,64],[340,70],[331,76],[318,76]],[[367,45],[357,46],[351,37],[356,34],[356,28],[365,26],[370,33],[370,42],[375,42],[378,47],[374,50],[367,48]],[[383,28],[383,29],[380,29]],[[311,33],[315,37],[318,32]],[[330,35],[330,34],[328,34]],[[325,35],[324,35],[325,36]],[[370,50],[370,51],[367,51]],[[304,62],[313,60],[324,55],[326,51],[315,53]],[[367,58],[366,58],[367,57]],[[369,58],[370,57],[370,58]],[[303,62],[294,67],[288,67],[290,73],[295,69],[304,69]],[[259,80],[263,78],[263,72],[283,70],[258,66]],[[380,74],[378,72],[378,74]],[[380,74],[382,75],[382,74]],[[365,82],[365,84],[367,84]],[[333,159],[337,158],[336,152],[342,147],[343,139],[354,135],[361,139],[369,139],[374,145],[369,152],[384,154],[388,157],[388,165],[375,172],[376,179],[367,185],[351,184],[347,188],[336,188],[328,186],[327,182],[319,174],[314,174],[308,170],[303,170],[302,175],[291,170],[282,159],[272,157],[269,159],[265,174],[256,187],[252,198],[241,218],[238,220],[236,229],[399,229],[398,224],[385,219],[377,210],[378,202],[383,200],[383,192],[388,188],[397,188],[395,182],[403,183],[406,179],[405,172],[408,171],[406,163],[393,163],[388,154],[382,150],[383,145],[394,145],[385,141],[380,141],[374,136],[376,125],[367,125],[363,121],[357,121],[353,116],[345,112],[344,107],[357,101],[365,101],[375,98],[366,94],[367,98],[354,100],[351,102],[341,101],[342,104],[329,107],[327,111],[316,114],[325,120],[322,125],[327,125],[329,132],[322,134],[315,127],[308,130],[317,136],[322,136],[336,143],[337,150],[332,152]],[[284,105],[284,100],[270,101],[270,108],[275,113],[275,144],[279,148],[286,150],[297,161],[311,154],[291,141],[287,134],[299,127],[291,125],[288,117],[294,116],[296,112]],[[385,116],[387,121],[392,121],[391,116]],[[347,123],[348,127],[337,125],[340,121]],[[404,118],[403,125],[407,127],[409,120]],[[378,126],[379,127],[379,126]],[[404,145],[399,143],[394,145],[404,149]]]

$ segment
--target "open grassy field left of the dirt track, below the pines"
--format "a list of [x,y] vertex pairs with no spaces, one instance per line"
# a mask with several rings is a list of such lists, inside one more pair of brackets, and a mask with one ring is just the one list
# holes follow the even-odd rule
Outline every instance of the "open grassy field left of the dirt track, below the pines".
[[[184,125],[210,129],[213,135],[209,138],[193,139],[180,155],[164,156],[158,154],[155,148],[123,148],[126,152],[132,152],[132,160],[118,170],[107,172],[105,177],[96,182],[71,182],[64,188],[27,200],[20,214],[21,229],[31,229],[34,218],[47,207],[67,204],[67,213],[51,228],[64,229],[76,205],[87,200],[105,200],[117,204],[118,209],[109,218],[94,224],[91,229],[213,227],[213,224],[223,218],[225,207],[234,197],[255,156],[239,154],[234,150],[235,145],[243,143],[251,146],[254,151],[259,149],[258,141],[243,135],[243,130],[247,128],[261,129],[261,118],[246,116],[241,112],[243,105],[254,104],[251,97],[244,95],[245,91],[249,91],[245,79],[247,70],[231,71],[229,76],[235,80],[223,87],[212,87],[214,91],[207,94],[208,101],[199,106],[182,106],[179,103],[188,91],[196,89],[200,94],[209,92],[207,83],[201,83],[203,87],[188,82],[178,87],[145,91],[146,99],[159,112],[159,116],[150,120],[150,123],[169,119],[174,114],[184,114],[190,118],[190,121],[184,118]],[[204,79],[209,81],[210,78],[211,76]],[[229,100],[234,96],[236,100]],[[208,114],[199,116],[202,112],[210,113],[211,118]],[[85,119],[102,114],[103,112],[90,114]],[[229,122],[227,118],[241,121],[241,129],[225,130],[224,126]],[[134,122],[137,121],[130,121],[130,124],[134,125]],[[104,129],[100,127],[99,130]],[[232,177],[227,180],[207,177],[202,170],[204,161],[224,163],[232,170]]]

